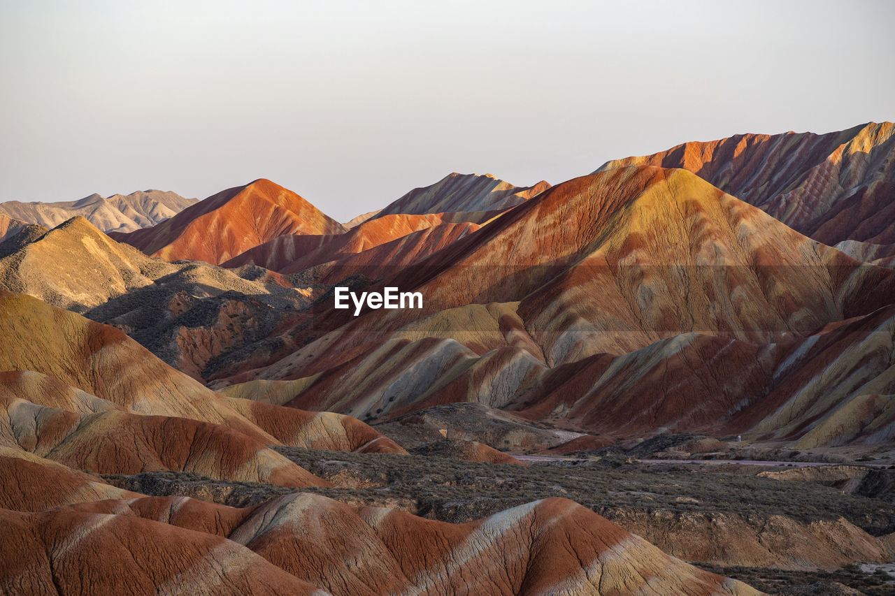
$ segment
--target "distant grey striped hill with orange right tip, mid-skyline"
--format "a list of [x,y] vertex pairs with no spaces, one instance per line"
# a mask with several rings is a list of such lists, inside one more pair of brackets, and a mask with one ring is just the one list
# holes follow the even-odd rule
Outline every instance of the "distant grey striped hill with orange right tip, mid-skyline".
[[[375,217],[397,213],[496,212],[474,220],[482,224],[501,211],[512,209],[550,188],[544,181],[514,186],[490,174],[450,174],[439,182],[413,189],[379,211]],[[473,221],[469,219],[468,221]]]

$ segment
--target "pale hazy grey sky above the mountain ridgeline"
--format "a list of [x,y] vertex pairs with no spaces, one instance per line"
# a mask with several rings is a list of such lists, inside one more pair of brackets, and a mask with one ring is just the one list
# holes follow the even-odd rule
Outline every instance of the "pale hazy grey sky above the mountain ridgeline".
[[895,2],[0,0],[0,200],[266,177],[340,220],[895,119]]

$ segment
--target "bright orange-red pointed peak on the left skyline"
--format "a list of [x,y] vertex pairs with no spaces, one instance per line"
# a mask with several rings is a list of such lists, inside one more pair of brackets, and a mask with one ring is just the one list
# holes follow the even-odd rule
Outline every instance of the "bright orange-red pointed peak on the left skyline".
[[154,257],[219,265],[283,234],[343,234],[345,226],[263,178],[218,192],[158,226],[112,234]]

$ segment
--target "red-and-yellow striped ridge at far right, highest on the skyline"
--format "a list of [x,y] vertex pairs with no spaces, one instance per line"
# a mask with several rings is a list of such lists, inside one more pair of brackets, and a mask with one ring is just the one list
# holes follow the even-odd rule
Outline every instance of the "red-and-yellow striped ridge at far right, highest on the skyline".
[[893,123],[687,142],[597,171],[632,165],[685,168],[825,244],[895,243]]

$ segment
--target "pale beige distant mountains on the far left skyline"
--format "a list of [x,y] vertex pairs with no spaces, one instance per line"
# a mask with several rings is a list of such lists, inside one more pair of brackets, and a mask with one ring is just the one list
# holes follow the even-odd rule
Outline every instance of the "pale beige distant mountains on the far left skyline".
[[55,227],[72,217],[81,216],[103,232],[132,232],[174,217],[196,201],[164,191],[114,194],[105,199],[91,194],[81,200],[55,203],[10,200],[0,203],[0,214],[44,227]]

